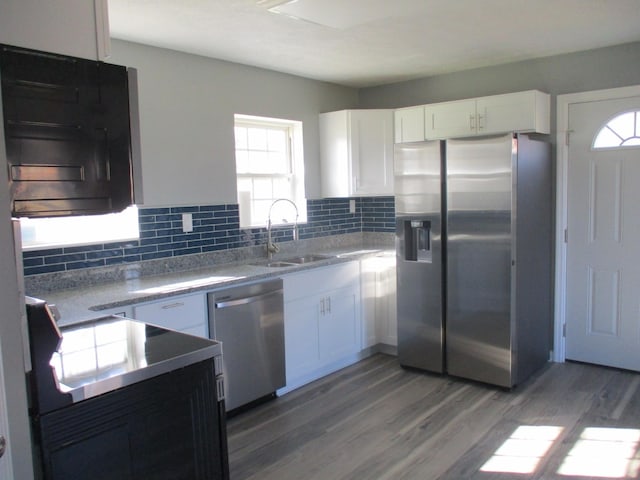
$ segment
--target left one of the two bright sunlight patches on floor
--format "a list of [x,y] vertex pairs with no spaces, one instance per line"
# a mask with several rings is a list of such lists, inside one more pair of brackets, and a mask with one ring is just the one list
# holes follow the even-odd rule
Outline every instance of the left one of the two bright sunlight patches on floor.
[[562,430],[562,427],[555,426],[522,425],[496,450],[480,471],[533,473]]

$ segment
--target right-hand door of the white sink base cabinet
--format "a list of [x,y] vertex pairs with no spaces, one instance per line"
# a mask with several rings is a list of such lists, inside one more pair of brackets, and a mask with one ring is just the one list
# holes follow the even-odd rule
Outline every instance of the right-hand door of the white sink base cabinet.
[[360,298],[357,290],[333,291],[320,300],[320,360],[329,363],[360,351]]

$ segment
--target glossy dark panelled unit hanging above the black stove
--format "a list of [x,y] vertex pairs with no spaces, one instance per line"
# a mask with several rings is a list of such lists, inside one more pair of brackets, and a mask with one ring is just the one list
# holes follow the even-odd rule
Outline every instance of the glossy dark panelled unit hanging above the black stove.
[[134,202],[127,68],[2,45],[0,76],[12,215]]

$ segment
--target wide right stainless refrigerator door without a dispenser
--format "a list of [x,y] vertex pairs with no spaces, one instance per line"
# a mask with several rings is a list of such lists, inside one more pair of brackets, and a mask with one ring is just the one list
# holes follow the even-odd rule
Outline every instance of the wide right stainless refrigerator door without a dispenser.
[[447,142],[447,370],[512,386],[511,135]]

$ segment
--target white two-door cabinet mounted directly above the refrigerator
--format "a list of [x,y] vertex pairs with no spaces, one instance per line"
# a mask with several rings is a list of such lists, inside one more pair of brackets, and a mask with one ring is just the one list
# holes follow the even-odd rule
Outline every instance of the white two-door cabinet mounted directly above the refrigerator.
[[537,90],[425,106],[427,140],[550,132],[550,96]]

